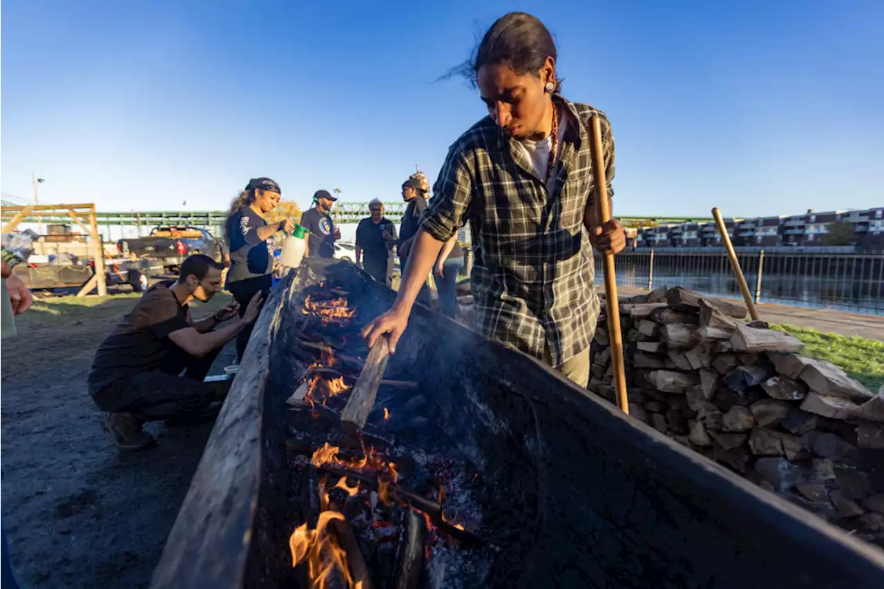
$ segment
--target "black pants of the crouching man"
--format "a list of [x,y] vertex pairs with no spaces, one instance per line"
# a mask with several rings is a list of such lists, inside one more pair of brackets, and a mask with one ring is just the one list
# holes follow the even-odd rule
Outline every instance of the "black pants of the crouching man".
[[[202,382],[221,348],[197,358],[173,344],[170,346],[169,356],[156,371],[119,379],[93,394],[98,409],[132,413],[139,421],[148,422],[191,417],[212,402],[222,401],[228,388],[226,382]],[[184,376],[179,376],[181,372]]]

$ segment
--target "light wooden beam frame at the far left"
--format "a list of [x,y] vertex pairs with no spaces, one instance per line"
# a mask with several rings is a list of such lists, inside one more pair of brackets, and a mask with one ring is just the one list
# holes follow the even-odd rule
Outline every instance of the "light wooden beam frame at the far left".
[[39,218],[42,222],[69,223],[80,226],[90,238],[92,259],[95,261],[95,275],[80,288],[77,296],[88,295],[98,289],[98,295],[107,295],[104,281],[104,250],[98,233],[98,219],[95,217],[95,204],[26,204],[25,206],[0,207],[0,233],[14,231],[19,223],[29,218]]

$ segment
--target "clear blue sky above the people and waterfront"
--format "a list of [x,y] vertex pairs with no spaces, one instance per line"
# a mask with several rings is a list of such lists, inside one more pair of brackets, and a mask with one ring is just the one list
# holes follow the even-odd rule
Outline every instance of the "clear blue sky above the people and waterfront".
[[[424,5],[429,4],[429,5]],[[250,177],[302,206],[435,180],[484,105],[433,83],[510,10],[606,111],[615,212],[884,204],[884,2],[0,2],[0,192],[211,210]]]

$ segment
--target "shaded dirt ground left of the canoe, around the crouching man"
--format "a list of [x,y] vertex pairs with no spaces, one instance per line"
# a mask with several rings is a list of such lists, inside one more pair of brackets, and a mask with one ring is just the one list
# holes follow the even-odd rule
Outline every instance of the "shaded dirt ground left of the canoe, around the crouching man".
[[[147,587],[209,437],[211,425],[159,426],[157,447],[120,454],[102,431],[89,365],[135,300],[41,301],[20,317],[19,338],[4,342],[0,509],[23,589]],[[225,348],[212,373],[233,356]]]

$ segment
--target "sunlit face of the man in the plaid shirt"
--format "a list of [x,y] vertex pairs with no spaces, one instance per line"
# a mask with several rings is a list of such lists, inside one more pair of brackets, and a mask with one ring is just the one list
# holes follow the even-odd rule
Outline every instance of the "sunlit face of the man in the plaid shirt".
[[476,80],[488,114],[504,133],[516,139],[534,138],[550,103],[544,87],[547,81],[555,80],[552,57],[546,59],[539,73],[523,75],[506,64],[483,65]]

